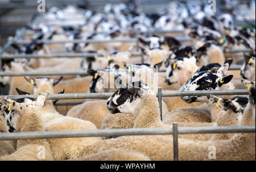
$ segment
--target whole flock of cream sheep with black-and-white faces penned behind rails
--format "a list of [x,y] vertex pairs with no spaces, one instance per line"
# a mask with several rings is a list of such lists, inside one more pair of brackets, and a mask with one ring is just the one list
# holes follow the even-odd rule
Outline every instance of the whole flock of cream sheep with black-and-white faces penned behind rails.
[[[156,14],[140,12],[136,3],[106,5],[104,12],[53,7],[28,25],[28,44],[12,46],[19,54],[97,53],[86,58],[2,60],[2,71],[86,70],[86,76],[3,76],[9,94],[38,98],[0,98],[0,132],[71,131],[117,128],[255,126],[255,29],[235,27],[231,14],[216,15],[196,6],[172,2]],[[199,8],[200,9],[200,8]],[[255,10],[255,8],[254,8]],[[255,14],[255,11],[254,11]],[[255,16],[254,16],[255,17]],[[60,26],[43,21],[82,19],[84,24]],[[63,21],[63,25],[65,22]],[[147,33],[184,29],[180,33]],[[163,35],[163,34],[162,34]],[[141,57],[131,42],[43,44],[40,40],[112,40],[137,37]],[[225,53],[233,49],[250,53]],[[242,58],[241,58],[242,57]],[[242,65],[230,71],[230,65]],[[166,67],[165,72],[158,72]],[[146,72],[157,81],[142,78]],[[118,80],[119,79],[119,80]],[[115,83],[119,84],[115,84]],[[103,87],[104,83],[113,88]],[[118,87],[119,86],[119,87]],[[249,96],[163,97],[160,119],[158,87],[169,91],[246,89]],[[114,92],[108,100],[46,100],[53,93]],[[56,108],[57,101],[84,101]],[[0,141],[0,160],[173,160],[172,135],[76,137]],[[179,135],[179,160],[255,160],[255,133]],[[44,157],[38,156],[39,148]]]

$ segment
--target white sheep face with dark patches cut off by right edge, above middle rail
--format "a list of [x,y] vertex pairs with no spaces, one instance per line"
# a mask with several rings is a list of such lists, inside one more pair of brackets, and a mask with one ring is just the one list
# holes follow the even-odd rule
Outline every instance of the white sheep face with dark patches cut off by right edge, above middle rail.
[[245,62],[240,70],[241,77],[255,81],[255,54],[243,54],[243,57]]

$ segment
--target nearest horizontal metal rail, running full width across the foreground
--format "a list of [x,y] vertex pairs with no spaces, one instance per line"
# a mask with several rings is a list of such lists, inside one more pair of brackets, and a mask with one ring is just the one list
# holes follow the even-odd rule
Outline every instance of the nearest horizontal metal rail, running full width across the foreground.
[[[178,127],[178,134],[214,134],[255,132],[255,126],[216,126],[216,127]],[[112,130],[78,130],[78,131],[36,131],[1,133],[0,140],[49,139],[68,137],[101,137],[124,135],[171,135],[172,128],[129,128]]]

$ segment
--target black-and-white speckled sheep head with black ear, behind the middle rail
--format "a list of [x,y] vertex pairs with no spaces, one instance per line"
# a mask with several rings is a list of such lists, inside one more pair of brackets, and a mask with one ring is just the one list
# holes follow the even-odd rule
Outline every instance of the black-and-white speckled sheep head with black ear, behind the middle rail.
[[[180,91],[218,90],[223,84],[229,83],[232,78],[233,75],[223,77],[211,71],[197,72],[180,88]],[[181,98],[187,103],[200,101],[199,96],[184,96]]]

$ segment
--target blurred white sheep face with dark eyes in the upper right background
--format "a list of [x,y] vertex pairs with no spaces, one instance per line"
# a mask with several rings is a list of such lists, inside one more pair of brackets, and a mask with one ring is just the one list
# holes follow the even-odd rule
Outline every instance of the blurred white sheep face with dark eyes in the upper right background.
[[220,32],[222,35],[228,35],[234,29],[234,21],[230,14],[222,14],[218,17]]

